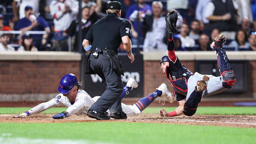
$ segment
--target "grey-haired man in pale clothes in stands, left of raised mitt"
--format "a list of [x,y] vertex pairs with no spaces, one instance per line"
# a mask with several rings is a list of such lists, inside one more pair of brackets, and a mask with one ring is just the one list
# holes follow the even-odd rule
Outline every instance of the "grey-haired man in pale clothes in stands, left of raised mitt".
[[167,45],[164,43],[166,32],[165,17],[162,16],[163,4],[160,1],[152,2],[152,14],[146,14],[143,25],[148,30],[144,40],[143,51],[166,51]]

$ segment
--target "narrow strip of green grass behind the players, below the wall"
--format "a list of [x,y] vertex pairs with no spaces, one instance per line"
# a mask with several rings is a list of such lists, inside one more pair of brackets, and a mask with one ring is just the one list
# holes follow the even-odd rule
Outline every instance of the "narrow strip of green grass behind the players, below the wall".
[[[176,107],[148,107],[144,114],[157,114],[158,110],[164,108],[167,112],[175,110]],[[30,108],[0,108],[0,114],[20,114]],[[57,114],[65,111],[64,107],[50,108],[42,114]],[[199,106],[196,114],[220,114],[220,115],[256,115],[256,107],[204,107]]]

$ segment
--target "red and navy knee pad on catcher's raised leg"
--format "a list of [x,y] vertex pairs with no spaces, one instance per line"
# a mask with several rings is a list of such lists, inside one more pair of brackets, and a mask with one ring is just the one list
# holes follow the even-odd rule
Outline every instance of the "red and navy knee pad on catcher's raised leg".
[[232,88],[232,86],[236,82],[234,71],[233,70],[224,71],[224,72],[222,72],[221,76],[222,76],[222,80],[223,80],[222,86],[224,88]]

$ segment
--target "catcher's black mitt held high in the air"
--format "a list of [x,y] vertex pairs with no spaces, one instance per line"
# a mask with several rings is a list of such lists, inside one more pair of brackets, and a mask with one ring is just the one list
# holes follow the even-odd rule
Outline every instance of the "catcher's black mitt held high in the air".
[[169,12],[165,18],[167,30],[172,34],[178,32],[178,28],[176,26],[177,20],[178,14],[175,11]]

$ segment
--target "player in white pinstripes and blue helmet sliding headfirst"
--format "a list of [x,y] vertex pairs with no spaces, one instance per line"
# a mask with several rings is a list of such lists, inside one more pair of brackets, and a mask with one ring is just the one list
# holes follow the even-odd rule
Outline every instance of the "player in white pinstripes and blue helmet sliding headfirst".
[[[65,112],[54,115],[52,117],[54,119],[65,118],[73,114],[86,114],[92,104],[94,104],[94,102],[96,102],[100,96],[95,96],[92,98],[84,90],[79,89],[80,86],[81,83],[78,82],[74,74],[66,74],[60,80],[60,86],[58,87],[60,94],[48,102],[41,103],[20,115],[13,116],[13,118],[24,118],[28,115],[40,113],[59,104],[63,104],[68,108]],[[137,82],[133,78],[130,78],[124,87],[121,98],[123,98],[123,96],[127,94],[129,90],[137,87]],[[165,84],[161,84],[155,92],[150,94],[148,97],[140,99],[136,104],[126,105],[122,103],[122,109],[128,116],[137,116],[138,114],[142,113],[142,111],[151,102],[153,102],[155,98],[158,100],[168,100],[168,102],[174,101],[174,98],[167,86]],[[109,112],[109,110],[107,112]]]

